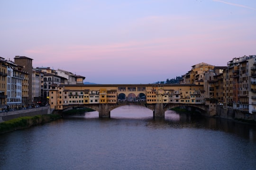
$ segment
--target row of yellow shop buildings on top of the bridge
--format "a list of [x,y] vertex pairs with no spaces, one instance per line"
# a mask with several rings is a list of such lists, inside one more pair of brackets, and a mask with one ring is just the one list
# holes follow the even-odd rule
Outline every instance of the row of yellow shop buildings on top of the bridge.
[[[203,85],[51,85],[49,104],[51,109],[62,110],[65,106],[84,104],[117,103],[119,95],[133,94],[139,102],[146,95],[146,103],[193,103],[203,104]],[[143,99],[144,100],[144,99]],[[143,101],[142,100],[142,101]]]

